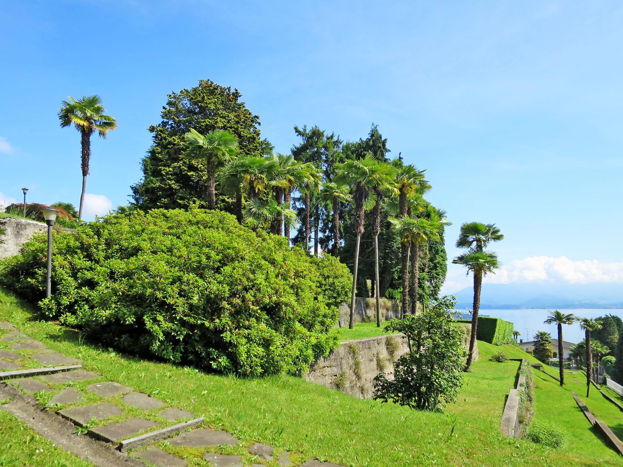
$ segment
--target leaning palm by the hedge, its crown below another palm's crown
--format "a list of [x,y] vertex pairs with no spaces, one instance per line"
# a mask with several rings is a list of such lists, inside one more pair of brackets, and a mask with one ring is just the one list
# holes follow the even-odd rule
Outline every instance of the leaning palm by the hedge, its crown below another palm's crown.
[[459,255],[452,261],[454,264],[464,265],[467,274],[473,272],[473,310],[472,310],[472,334],[469,339],[469,354],[465,371],[470,372],[472,366],[473,349],[476,344],[476,332],[478,327],[478,309],[480,308],[480,290],[482,288],[482,278],[488,273],[495,274],[495,270],[502,267],[498,257],[494,252],[478,251],[470,248],[466,253]]

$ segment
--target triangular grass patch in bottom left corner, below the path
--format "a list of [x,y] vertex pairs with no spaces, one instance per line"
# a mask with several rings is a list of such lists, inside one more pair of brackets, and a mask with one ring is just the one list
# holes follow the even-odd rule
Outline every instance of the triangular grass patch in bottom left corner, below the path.
[[0,466],[2,467],[93,467],[37,435],[26,423],[2,410],[0,405]]

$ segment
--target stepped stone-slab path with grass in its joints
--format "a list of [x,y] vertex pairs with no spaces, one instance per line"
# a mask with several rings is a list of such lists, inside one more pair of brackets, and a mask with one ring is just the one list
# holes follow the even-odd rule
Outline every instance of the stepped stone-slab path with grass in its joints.
[[[183,467],[184,453],[193,448],[214,467],[341,467],[315,459],[295,463],[288,451],[248,446],[231,433],[204,427],[203,417],[86,371],[81,361],[46,349],[6,321],[0,335],[0,380],[8,384],[0,383],[0,399],[12,398],[1,410],[97,466]],[[46,408],[31,394],[49,397]],[[75,434],[74,425],[88,436]],[[126,450],[130,456],[121,452]]]

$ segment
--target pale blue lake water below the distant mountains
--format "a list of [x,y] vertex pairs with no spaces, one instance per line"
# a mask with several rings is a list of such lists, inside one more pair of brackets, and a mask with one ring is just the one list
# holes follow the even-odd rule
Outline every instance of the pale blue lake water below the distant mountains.
[[[597,318],[597,316],[606,316],[606,314],[614,314],[623,319],[623,309],[561,309],[561,313],[573,313],[580,318]],[[547,309],[481,309],[478,314],[493,316],[494,318],[502,318],[515,324],[515,331],[519,331],[520,339],[531,341],[532,336],[537,331],[546,331],[551,333],[552,337],[558,336],[558,328],[556,324],[543,324],[547,318],[549,310]],[[577,344],[584,339],[584,331],[580,329],[578,323],[570,326],[563,326],[563,338],[565,341]]]

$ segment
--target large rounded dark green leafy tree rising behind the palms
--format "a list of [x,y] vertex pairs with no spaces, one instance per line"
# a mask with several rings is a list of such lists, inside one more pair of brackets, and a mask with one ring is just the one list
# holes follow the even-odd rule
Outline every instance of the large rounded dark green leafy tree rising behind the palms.
[[[152,125],[152,145],[142,161],[143,179],[132,186],[141,209],[188,208],[201,203],[207,191],[207,173],[200,159],[184,158],[185,135],[226,130],[239,141],[239,156],[261,156],[270,146],[260,139],[260,118],[249,111],[237,89],[211,80],[168,95],[162,120]],[[235,212],[231,197],[216,187],[216,207]],[[239,212],[236,213],[240,215]]]

